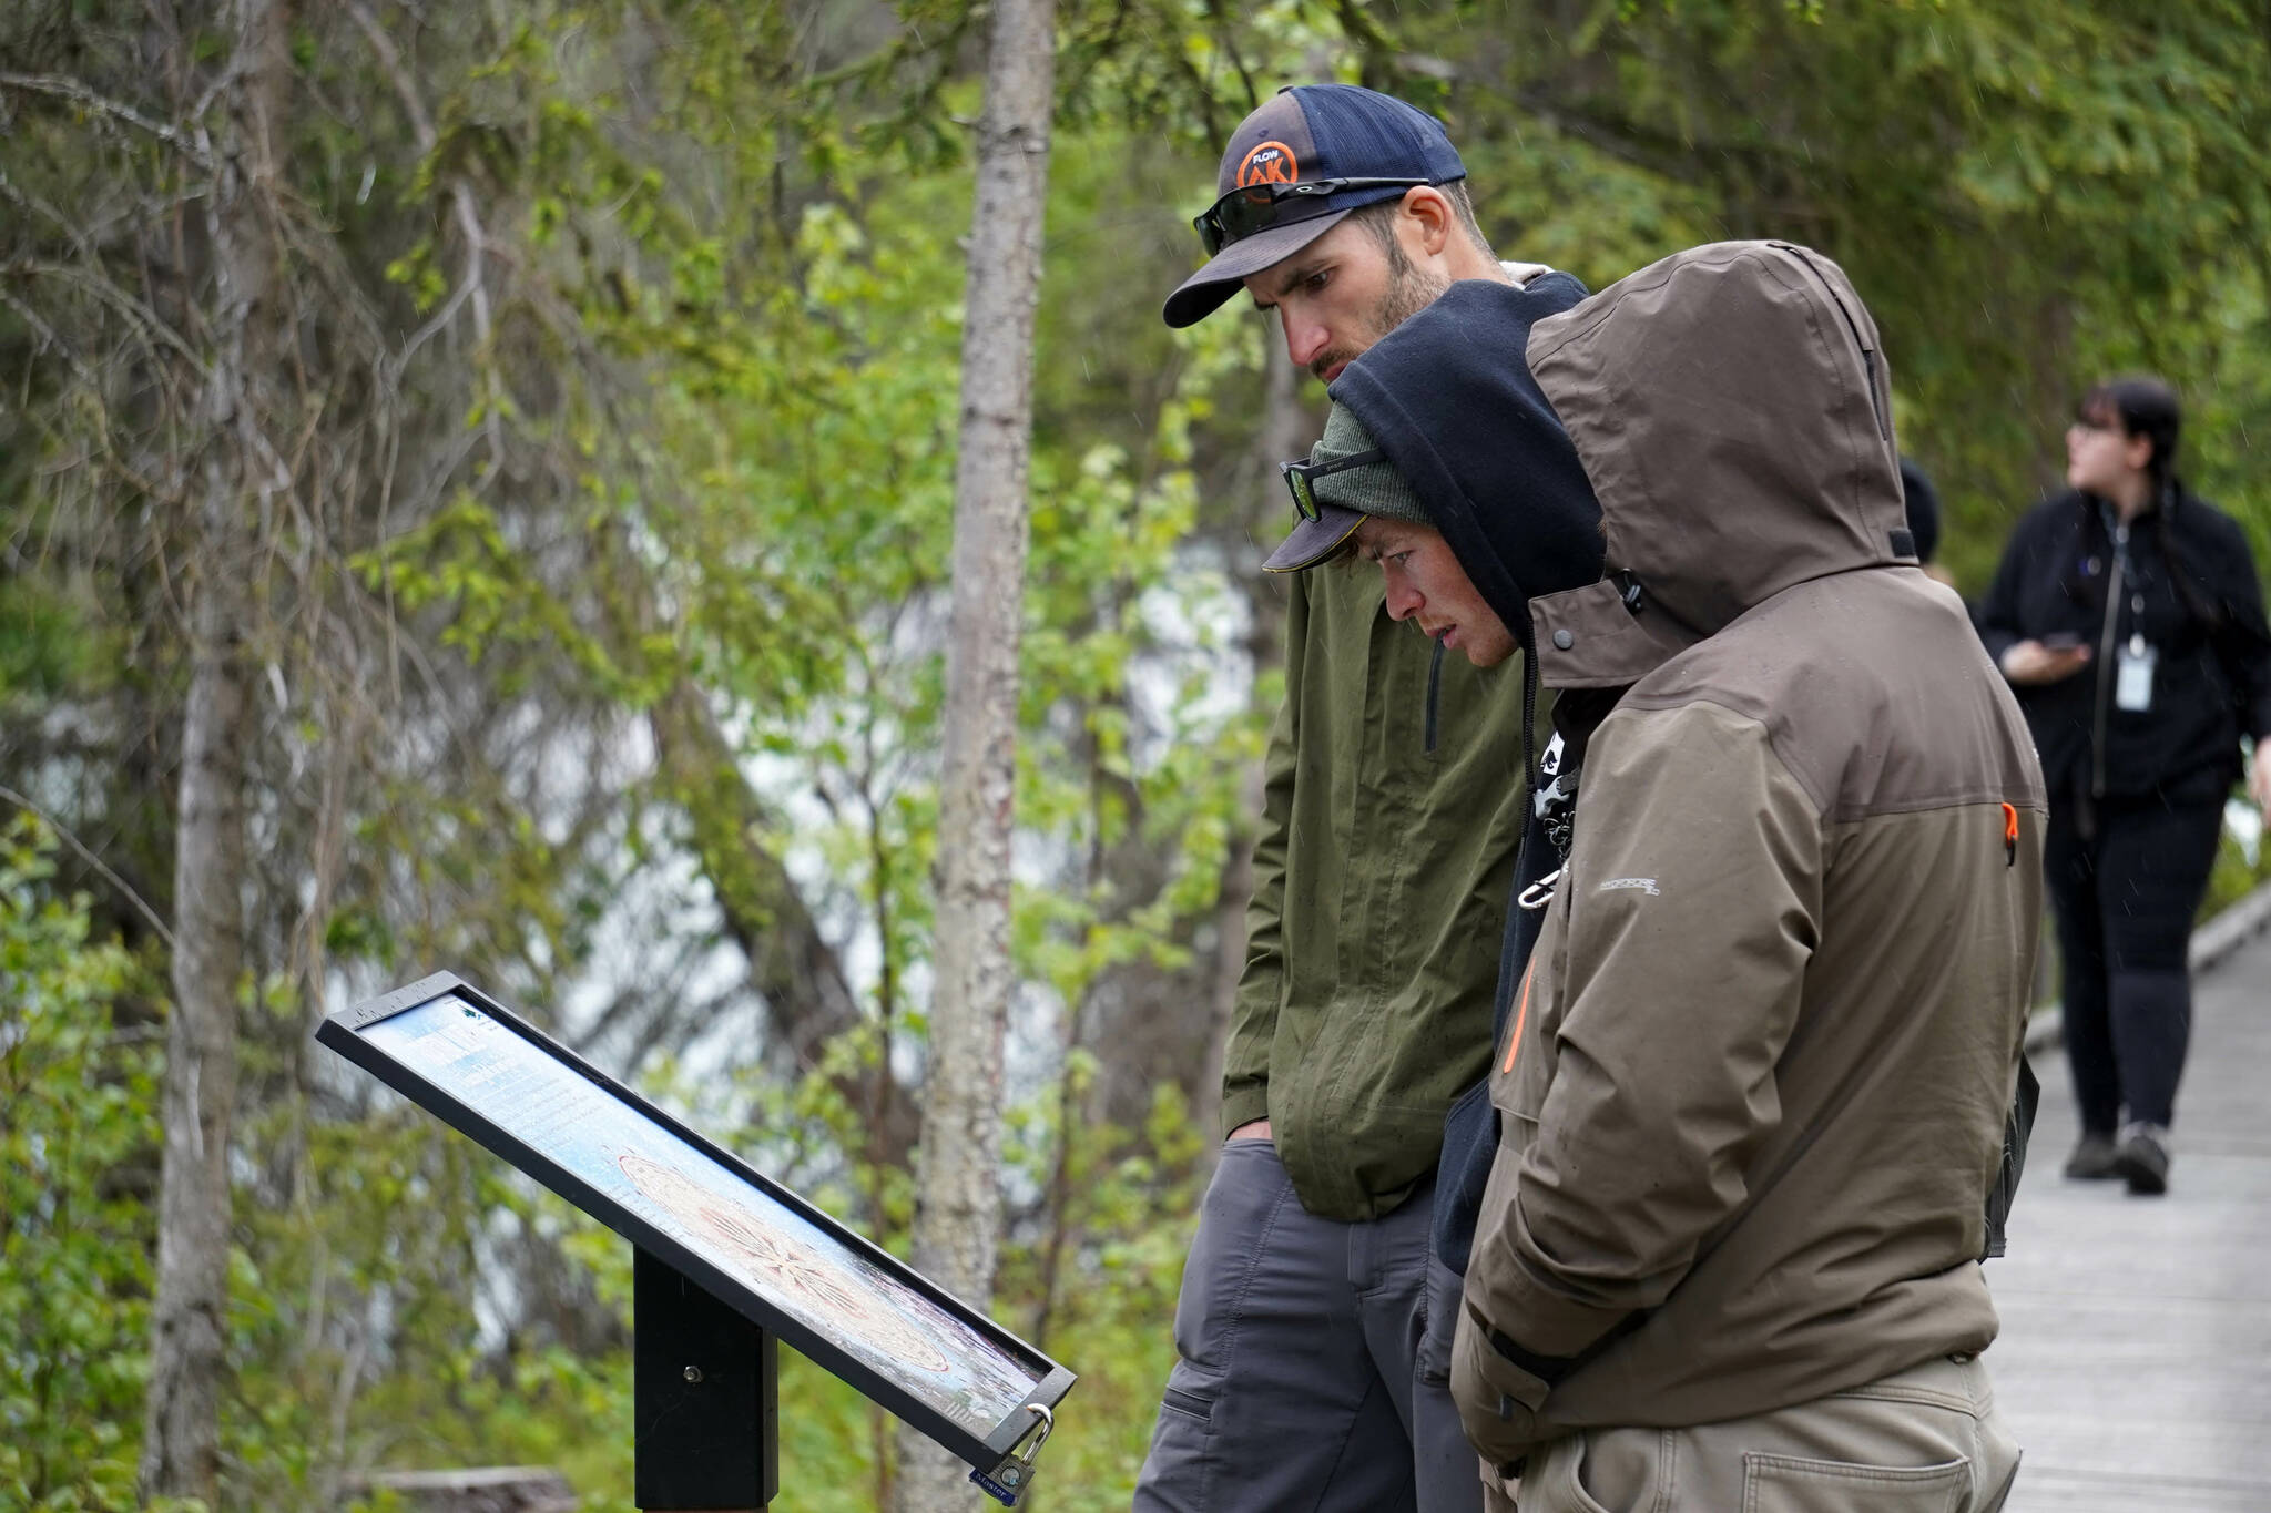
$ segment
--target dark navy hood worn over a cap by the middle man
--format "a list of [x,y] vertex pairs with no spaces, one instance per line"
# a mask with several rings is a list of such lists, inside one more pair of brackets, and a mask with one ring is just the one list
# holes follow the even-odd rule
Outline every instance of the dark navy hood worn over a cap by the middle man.
[[1562,272],[1465,279],[1333,383],[1508,631],[1531,640],[1537,594],[1601,578],[1601,506],[1522,352],[1531,329],[1581,308]]

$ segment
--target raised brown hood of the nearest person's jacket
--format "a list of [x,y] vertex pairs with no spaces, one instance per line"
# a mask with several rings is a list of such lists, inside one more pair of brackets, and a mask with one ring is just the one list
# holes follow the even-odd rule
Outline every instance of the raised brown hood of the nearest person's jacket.
[[1547,685],[1603,681],[1633,585],[1635,624],[1676,649],[1799,583],[1917,560],[1876,322],[1819,252],[1678,252],[1540,322],[1526,356],[1601,499],[1610,576],[1531,606]]

